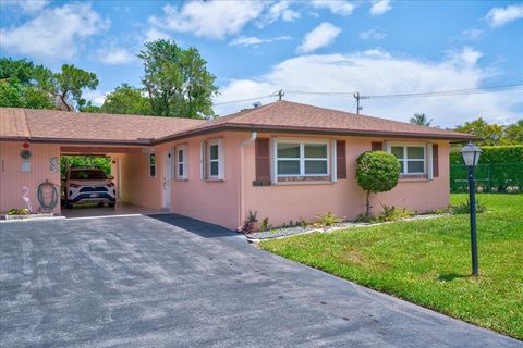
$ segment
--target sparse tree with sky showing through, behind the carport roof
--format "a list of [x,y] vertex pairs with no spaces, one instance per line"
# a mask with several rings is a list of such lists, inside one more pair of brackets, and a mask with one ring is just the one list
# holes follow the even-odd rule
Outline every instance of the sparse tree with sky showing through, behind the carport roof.
[[49,70],[38,72],[36,79],[40,88],[54,98],[57,108],[66,111],[84,107],[86,104],[86,100],[82,98],[84,89],[93,90],[98,86],[95,73],[69,64],[63,64],[60,73],[52,73]]

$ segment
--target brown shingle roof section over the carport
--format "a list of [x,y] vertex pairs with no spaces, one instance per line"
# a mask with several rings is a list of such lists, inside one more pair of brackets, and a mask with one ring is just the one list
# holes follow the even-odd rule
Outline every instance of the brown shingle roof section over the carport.
[[[17,128],[2,126],[0,138],[20,137],[22,134],[32,140],[148,144],[154,138],[204,123],[202,120],[179,117],[0,108],[0,125],[12,124],[13,113],[19,116]],[[21,132],[24,129],[21,124],[25,125],[25,133]]]

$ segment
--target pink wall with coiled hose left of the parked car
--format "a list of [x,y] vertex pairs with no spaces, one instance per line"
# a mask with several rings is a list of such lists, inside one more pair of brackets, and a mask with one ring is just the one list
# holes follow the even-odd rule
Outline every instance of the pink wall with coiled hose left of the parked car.
[[[24,149],[22,145],[23,141],[0,141],[0,212],[2,213],[12,208],[26,208],[22,198],[22,187],[29,189],[27,197],[31,199],[34,211],[39,209],[38,186],[46,179],[58,185],[60,195],[60,162],[58,162],[57,172],[52,172],[49,164],[51,158],[60,160],[60,147],[31,144],[31,171],[22,172],[23,160],[20,157],[20,152]],[[60,197],[53,212],[60,212]]]

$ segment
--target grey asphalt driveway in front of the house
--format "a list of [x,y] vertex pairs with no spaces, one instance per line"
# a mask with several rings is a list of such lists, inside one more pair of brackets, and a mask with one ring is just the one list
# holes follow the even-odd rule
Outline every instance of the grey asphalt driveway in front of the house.
[[523,347],[174,215],[0,224],[1,347]]

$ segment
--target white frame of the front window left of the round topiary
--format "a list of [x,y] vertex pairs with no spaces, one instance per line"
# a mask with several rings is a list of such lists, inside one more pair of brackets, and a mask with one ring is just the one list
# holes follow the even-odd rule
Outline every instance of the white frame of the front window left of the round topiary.
[[[330,176],[330,140],[319,140],[319,139],[275,139],[275,177],[278,181],[279,177],[314,177],[314,176]],[[278,157],[278,145],[279,144],[297,144],[300,146],[300,157],[297,158],[280,158]],[[325,158],[306,158],[305,157],[305,146],[306,145],[324,145],[326,147],[326,157]],[[299,161],[300,162],[300,173],[297,174],[279,174],[278,165],[280,161]],[[306,161],[325,161],[326,162],[326,172],[325,173],[315,173],[306,174],[305,173],[305,162]]]

